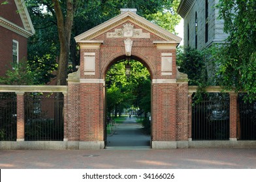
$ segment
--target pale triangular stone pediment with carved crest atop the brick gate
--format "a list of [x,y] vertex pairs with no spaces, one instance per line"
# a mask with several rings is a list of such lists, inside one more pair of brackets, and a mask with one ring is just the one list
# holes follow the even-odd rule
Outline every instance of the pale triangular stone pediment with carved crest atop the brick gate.
[[[120,25],[123,25],[120,28]],[[138,28],[134,28],[133,25],[136,25]],[[115,27],[119,27],[116,28]],[[114,32],[110,32],[114,29]],[[142,29],[147,32],[142,31]],[[150,38],[150,33],[155,34],[163,41],[171,44],[180,44],[182,38],[172,34],[171,32],[155,25],[154,23],[148,21],[141,16],[138,16],[134,12],[127,11],[124,12],[108,21],[86,31],[75,37],[77,43],[90,42],[95,39],[97,36],[106,33],[107,38]]]

